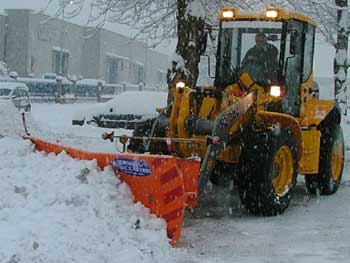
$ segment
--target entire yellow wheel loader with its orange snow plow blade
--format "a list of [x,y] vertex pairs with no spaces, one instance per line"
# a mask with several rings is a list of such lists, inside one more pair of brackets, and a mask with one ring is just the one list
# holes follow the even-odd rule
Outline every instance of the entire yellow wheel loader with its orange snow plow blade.
[[224,8],[214,85],[179,80],[168,107],[133,136],[104,134],[128,153],[89,156],[29,139],[39,150],[94,158],[101,168],[111,164],[135,199],[168,222],[173,243],[184,208],[195,207],[209,181],[234,182],[245,209],[263,216],[288,208],[298,174],[309,193],[334,194],[344,166],[341,111],[315,95],[315,28],[310,18],[280,8],[259,14]]

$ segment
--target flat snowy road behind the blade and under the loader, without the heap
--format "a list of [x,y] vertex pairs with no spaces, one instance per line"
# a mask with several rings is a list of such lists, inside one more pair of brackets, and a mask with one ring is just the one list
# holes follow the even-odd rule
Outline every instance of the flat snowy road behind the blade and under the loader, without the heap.
[[[86,106],[37,104],[33,118],[47,131],[59,133],[51,136],[67,143],[89,150],[115,150],[101,142],[101,129],[70,125],[72,111]],[[224,191],[213,191],[215,198],[208,198],[199,218],[185,220],[182,239],[170,253],[171,262],[350,262],[349,169],[347,163],[343,185],[329,197],[307,196],[301,178],[291,207],[277,217],[250,216],[239,208],[237,198],[229,213],[225,196],[217,194]]]

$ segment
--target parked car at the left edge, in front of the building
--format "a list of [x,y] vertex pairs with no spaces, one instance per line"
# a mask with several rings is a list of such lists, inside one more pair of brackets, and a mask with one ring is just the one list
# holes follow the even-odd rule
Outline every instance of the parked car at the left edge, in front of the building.
[[30,111],[31,104],[27,85],[19,82],[0,82],[0,99],[12,100],[13,104],[25,111]]

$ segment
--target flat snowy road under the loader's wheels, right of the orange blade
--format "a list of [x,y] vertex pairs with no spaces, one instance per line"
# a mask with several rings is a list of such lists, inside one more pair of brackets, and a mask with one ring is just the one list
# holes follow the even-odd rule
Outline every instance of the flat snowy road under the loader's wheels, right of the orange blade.
[[[344,177],[349,179],[348,166]],[[207,210],[209,218],[186,220],[180,242],[203,260],[350,262],[348,182],[334,196],[311,198],[300,183],[291,207],[277,217],[254,217],[240,209],[229,215],[220,205]]]

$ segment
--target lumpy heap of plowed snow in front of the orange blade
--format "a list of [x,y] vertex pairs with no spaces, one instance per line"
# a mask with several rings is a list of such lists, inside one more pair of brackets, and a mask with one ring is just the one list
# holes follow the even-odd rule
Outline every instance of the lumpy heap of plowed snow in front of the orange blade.
[[0,262],[169,262],[163,220],[95,161],[0,139]]

